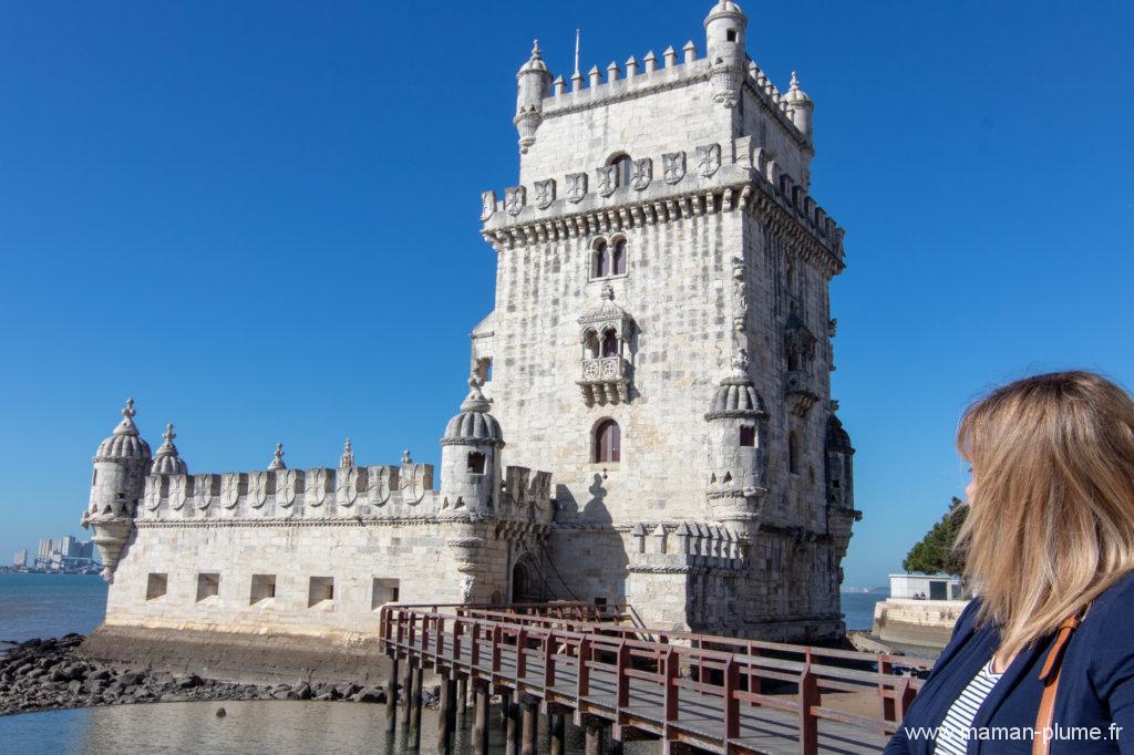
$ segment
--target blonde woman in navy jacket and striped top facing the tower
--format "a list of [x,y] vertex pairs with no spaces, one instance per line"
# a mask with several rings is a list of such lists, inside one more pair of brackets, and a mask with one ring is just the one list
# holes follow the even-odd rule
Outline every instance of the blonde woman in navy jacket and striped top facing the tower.
[[1036,375],[970,407],[957,444],[979,597],[887,755],[1134,753],[1134,401]]

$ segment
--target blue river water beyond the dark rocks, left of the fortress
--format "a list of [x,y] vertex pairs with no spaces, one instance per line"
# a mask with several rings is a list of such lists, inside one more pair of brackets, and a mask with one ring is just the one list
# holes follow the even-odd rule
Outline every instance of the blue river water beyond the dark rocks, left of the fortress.
[[85,635],[105,613],[107,583],[96,575],[0,572],[0,641]]

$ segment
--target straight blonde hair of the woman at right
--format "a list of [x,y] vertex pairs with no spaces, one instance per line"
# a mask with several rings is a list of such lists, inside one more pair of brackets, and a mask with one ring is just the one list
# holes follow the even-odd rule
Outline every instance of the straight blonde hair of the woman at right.
[[1026,378],[965,412],[957,448],[975,620],[1010,658],[1134,569],[1134,401],[1089,372]]

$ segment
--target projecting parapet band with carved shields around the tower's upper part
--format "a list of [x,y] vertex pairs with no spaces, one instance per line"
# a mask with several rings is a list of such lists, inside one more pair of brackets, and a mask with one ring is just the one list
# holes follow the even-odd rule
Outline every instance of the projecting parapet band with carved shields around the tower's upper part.
[[481,195],[481,235],[498,252],[745,207],[799,239],[829,275],[841,272],[845,231],[751,136],[634,160],[629,185],[613,166]]

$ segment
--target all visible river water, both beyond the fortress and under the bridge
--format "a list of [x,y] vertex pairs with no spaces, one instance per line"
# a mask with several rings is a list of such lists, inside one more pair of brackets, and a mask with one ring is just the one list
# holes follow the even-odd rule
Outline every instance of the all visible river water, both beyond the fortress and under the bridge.
[[[875,594],[843,595],[847,627],[865,629]],[[0,641],[90,633],[103,619],[107,586],[94,576],[0,574]],[[0,646],[2,647],[2,646]],[[218,709],[226,715],[217,715]],[[490,749],[503,752],[493,709]],[[314,753],[414,753],[404,730],[384,733],[383,705],[316,702],[223,702],[115,705],[0,718],[2,753],[169,753],[306,755]],[[472,712],[462,716],[454,753],[472,753]],[[548,752],[545,721],[538,738]],[[657,752],[657,743],[627,743],[626,752]],[[567,749],[583,752],[582,730],[568,726]],[[437,752],[437,713],[422,715],[421,753]]]

